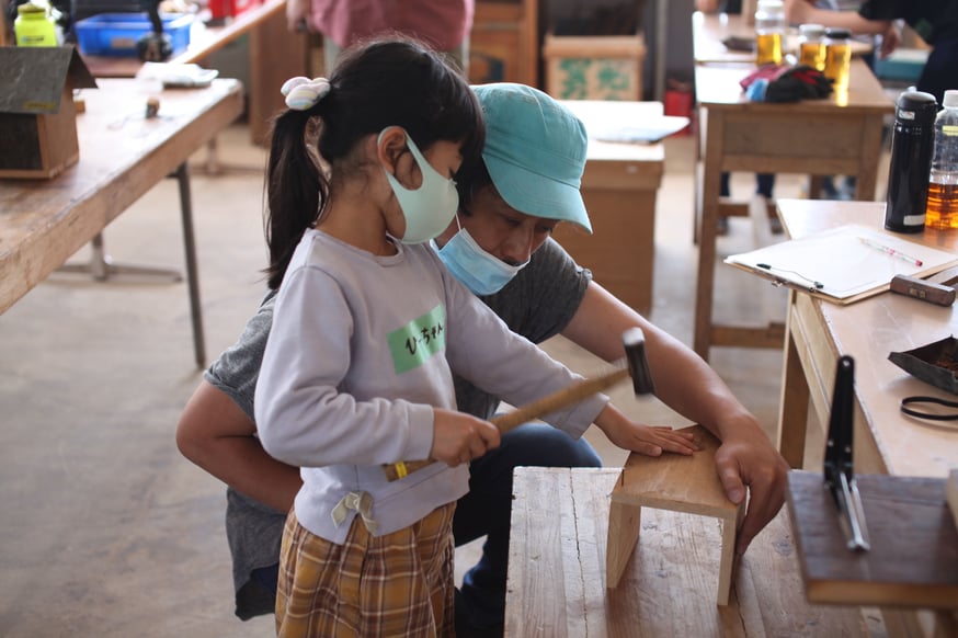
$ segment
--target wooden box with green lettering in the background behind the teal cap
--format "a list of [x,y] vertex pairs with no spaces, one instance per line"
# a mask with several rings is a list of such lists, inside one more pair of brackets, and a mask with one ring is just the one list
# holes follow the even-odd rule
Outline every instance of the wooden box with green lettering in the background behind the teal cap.
[[641,100],[646,43],[641,34],[546,34],[546,92],[557,100]]

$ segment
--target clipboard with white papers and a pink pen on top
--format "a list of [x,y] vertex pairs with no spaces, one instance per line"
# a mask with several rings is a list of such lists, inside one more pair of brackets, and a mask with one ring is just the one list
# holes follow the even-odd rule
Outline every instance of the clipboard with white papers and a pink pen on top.
[[847,305],[889,289],[892,277],[926,277],[958,255],[901,235],[848,224],[732,254],[725,263],[825,301]]

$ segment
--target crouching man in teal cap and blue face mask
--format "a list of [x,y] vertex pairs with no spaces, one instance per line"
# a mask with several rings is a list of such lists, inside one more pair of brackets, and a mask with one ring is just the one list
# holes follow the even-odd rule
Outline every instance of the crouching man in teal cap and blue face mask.
[[[487,84],[476,92],[487,119],[483,164],[467,167],[457,175],[460,214],[436,239],[440,258],[513,331],[533,342],[561,333],[614,361],[623,355],[621,333],[640,327],[659,398],[722,441],[716,469],[729,498],[740,502],[745,487],[751,488],[739,544],[744,551],[782,506],[784,459],[755,418],[702,358],[592,282],[591,273],[549,239],[560,220],[590,228],[579,193],[586,147],[582,123],[529,87]],[[282,512],[300,485],[296,468],[266,456],[248,417],[271,311],[267,301],[238,344],[210,367],[178,430],[183,454],[236,490],[230,492],[227,521],[241,617],[250,613],[241,607],[248,602],[244,596],[258,591],[256,579],[269,578],[269,569],[275,574]],[[498,406],[494,397],[466,381],[457,381],[456,389],[460,410],[489,418]],[[645,454],[662,453],[650,432],[654,429],[607,408],[603,431],[613,443]],[[454,533],[457,545],[483,535],[487,540],[481,560],[469,570],[460,591],[457,628],[463,635],[469,625],[501,633],[512,469],[600,463],[585,441],[533,424],[503,435],[498,449],[472,462],[470,493],[458,502]],[[250,549],[259,556],[244,556]]]

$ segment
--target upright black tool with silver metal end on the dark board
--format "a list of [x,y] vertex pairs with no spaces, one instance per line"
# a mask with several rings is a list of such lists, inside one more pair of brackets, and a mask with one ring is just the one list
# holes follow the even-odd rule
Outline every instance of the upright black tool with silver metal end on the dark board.
[[825,443],[825,488],[835,500],[839,523],[848,549],[868,551],[871,544],[865,526],[865,510],[852,467],[854,386],[855,362],[851,356],[842,356],[835,371],[835,392],[832,397],[829,438]]

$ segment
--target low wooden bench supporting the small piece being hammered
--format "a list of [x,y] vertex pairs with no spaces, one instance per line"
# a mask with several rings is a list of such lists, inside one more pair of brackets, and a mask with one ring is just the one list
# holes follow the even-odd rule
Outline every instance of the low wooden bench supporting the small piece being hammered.
[[619,469],[516,468],[505,635],[869,636],[857,607],[806,602],[788,512],[740,560],[716,605],[721,524],[646,509],[641,543],[605,586],[609,494]]

